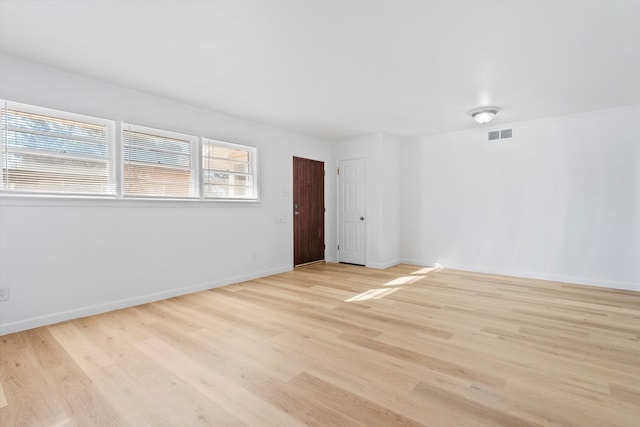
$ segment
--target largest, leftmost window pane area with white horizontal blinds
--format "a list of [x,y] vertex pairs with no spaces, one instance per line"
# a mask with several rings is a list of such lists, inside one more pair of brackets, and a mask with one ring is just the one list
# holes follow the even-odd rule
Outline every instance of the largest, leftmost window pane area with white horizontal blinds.
[[3,191],[115,195],[113,122],[0,101]]

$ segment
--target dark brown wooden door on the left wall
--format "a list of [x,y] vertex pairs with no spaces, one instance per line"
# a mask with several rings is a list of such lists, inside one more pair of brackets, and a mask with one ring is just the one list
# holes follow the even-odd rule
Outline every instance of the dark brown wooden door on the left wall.
[[293,265],[324,259],[324,162],[293,158]]

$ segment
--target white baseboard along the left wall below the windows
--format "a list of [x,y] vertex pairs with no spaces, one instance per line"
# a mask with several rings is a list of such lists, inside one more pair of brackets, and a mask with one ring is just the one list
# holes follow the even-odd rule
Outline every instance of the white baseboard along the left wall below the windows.
[[38,328],[40,326],[53,325],[55,323],[64,322],[66,320],[79,319],[81,317],[93,316],[95,314],[106,313],[108,311],[133,307],[140,304],[147,304],[167,298],[191,294],[194,292],[206,291],[208,289],[218,288],[233,283],[246,282],[247,280],[259,279],[261,277],[284,273],[287,271],[291,271],[292,269],[293,268],[291,266],[272,268],[269,270],[228,277],[225,279],[216,280],[215,282],[200,283],[197,285],[185,286],[183,288],[169,289],[166,291],[154,292],[151,294],[140,295],[133,298],[111,301],[104,304],[91,305],[88,307],[81,307],[73,310],[46,314],[43,316],[30,317],[28,319],[21,319],[8,323],[0,323],[0,336],[12,334],[14,332],[26,331],[27,329]]

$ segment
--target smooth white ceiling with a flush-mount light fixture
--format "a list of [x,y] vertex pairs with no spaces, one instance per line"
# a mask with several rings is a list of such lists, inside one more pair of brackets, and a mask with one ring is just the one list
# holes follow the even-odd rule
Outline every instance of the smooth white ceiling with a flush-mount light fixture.
[[640,104],[640,0],[0,0],[0,52],[321,138]]

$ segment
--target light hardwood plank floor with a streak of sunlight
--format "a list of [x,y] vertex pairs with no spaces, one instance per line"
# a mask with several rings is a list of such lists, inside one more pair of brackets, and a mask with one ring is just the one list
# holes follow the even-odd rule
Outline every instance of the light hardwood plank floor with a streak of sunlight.
[[640,426],[640,293],[293,272],[0,337],[0,425]]

